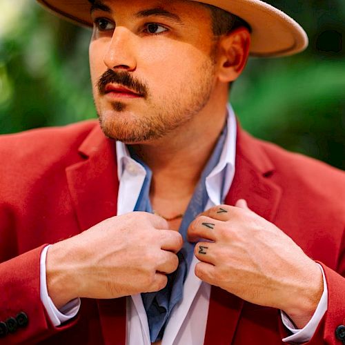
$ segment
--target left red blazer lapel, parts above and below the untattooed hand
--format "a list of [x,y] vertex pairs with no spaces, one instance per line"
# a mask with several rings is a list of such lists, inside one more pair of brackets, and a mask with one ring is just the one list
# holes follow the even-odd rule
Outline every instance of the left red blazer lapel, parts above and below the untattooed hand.
[[[115,142],[96,126],[79,147],[83,161],[66,168],[68,188],[80,230],[117,215]],[[97,250],[97,248],[95,248]],[[126,342],[126,297],[98,301],[105,344]]]

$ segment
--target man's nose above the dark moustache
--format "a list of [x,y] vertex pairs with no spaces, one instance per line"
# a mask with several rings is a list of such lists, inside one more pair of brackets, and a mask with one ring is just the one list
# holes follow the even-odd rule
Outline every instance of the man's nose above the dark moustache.
[[115,28],[108,50],[103,61],[110,70],[128,70],[137,68],[135,59],[135,39],[127,28],[118,26]]

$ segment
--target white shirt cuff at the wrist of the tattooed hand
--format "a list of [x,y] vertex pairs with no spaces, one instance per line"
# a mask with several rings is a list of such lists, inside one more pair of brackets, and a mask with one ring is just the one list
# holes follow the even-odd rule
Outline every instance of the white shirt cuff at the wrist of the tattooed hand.
[[[319,264],[317,264],[319,265]],[[316,311],[313,317],[309,320],[308,324],[304,326],[302,329],[295,328],[293,322],[290,321],[288,315],[284,313],[284,311],[280,311],[282,315],[282,322],[288,330],[293,333],[292,335],[285,337],[283,342],[295,342],[295,343],[303,343],[309,342],[313,337],[319,322],[321,321],[324,313],[327,311],[327,304],[328,304],[328,293],[327,293],[327,283],[326,277],[324,275],[324,269],[321,265],[319,265],[320,270],[322,271],[322,278],[324,280],[324,292],[322,293],[321,299],[319,300],[319,304],[317,305]]]

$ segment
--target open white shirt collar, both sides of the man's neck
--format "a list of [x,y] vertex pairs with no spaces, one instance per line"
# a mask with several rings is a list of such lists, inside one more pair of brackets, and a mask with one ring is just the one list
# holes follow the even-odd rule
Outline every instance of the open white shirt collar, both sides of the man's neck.
[[[219,205],[224,201],[224,197],[228,193],[231,182],[235,175],[235,157],[236,157],[236,117],[233,107],[228,103],[228,132],[224,142],[224,147],[221,151],[221,156],[217,166],[206,177],[206,190],[208,197],[215,205]],[[119,181],[124,173],[125,168],[130,170],[139,170],[143,173],[143,166],[139,164],[135,159],[130,157],[130,153],[126,144],[121,141],[116,141],[117,152],[117,176]],[[225,174],[225,177],[224,175]],[[223,178],[224,177],[224,178]],[[223,188],[221,188],[221,181],[223,181]],[[219,193],[219,189],[220,193]]]

